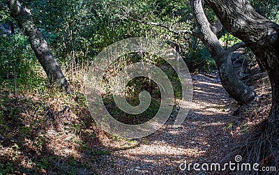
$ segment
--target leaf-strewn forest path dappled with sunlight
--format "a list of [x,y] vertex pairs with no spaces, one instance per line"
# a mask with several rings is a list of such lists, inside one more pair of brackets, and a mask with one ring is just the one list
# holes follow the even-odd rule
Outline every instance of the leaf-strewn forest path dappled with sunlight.
[[[138,139],[130,149],[102,155],[94,168],[98,174],[208,174],[181,171],[183,162],[211,163],[223,158],[221,150],[230,142],[223,128],[234,122],[229,114],[232,100],[218,77],[192,75],[193,105],[181,127],[165,124],[149,137]],[[110,143],[108,147],[114,146]],[[217,163],[217,162],[216,162]],[[183,167],[182,167],[183,168]],[[212,173],[211,173],[212,174]]]

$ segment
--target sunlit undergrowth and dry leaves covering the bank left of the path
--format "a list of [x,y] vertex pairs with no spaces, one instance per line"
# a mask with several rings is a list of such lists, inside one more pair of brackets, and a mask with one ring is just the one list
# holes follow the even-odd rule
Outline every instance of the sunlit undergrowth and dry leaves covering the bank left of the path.
[[[13,39],[18,42],[18,38]],[[50,84],[25,38],[21,45],[25,52],[20,48],[10,50],[15,58],[1,64],[0,174],[94,174],[93,167],[103,156],[137,146],[137,142],[113,137],[94,123],[84,94],[89,61],[70,59],[63,63],[58,59],[73,89],[70,96]],[[3,59],[11,58],[7,54]],[[103,94],[107,110],[123,123],[149,121],[160,107],[158,86],[143,77],[129,82],[126,98],[131,105],[138,105],[140,91],[149,91],[152,102],[144,114],[126,114],[114,104],[110,81],[123,66],[141,59],[163,67],[176,99],[181,99],[179,79],[166,62],[151,56],[124,58],[108,68],[105,78],[109,81],[104,84],[107,91]],[[108,147],[106,142],[119,146]]]

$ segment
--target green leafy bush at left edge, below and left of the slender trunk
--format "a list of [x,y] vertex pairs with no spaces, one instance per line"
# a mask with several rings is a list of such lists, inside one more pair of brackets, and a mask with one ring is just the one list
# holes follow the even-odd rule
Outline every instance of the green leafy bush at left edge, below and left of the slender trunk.
[[24,89],[38,88],[38,84],[44,83],[37,75],[42,68],[22,34],[0,36],[0,52],[0,84],[9,91],[14,91],[15,82]]

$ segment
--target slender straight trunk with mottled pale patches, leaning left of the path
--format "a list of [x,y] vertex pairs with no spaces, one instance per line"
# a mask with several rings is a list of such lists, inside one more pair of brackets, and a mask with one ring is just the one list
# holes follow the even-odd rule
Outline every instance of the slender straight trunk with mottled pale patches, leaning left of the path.
[[58,83],[66,93],[71,93],[70,84],[64,77],[59,64],[54,58],[50,47],[43,39],[42,33],[33,24],[31,15],[17,0],[7,1],[11,9],[11,16],[17,21],[17,24],[24,31],[25,35],[29,37],[29,43],[32,50],[35,52],[38,61],[45,70],[47,77],[53,82]]

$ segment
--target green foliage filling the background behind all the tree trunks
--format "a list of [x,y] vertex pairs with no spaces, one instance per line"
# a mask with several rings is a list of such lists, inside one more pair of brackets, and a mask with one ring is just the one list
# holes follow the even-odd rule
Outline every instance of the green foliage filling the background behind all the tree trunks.
[[[128,18],[130,16],[143,21],[160,22],[176,30],[190,29],[195,24],[188,1],[43,0],[22,3],[31,11],[35,24],[39,26],[54,55],[66,70],[76,68],[84,61],[91,61],[104,47],[117,40],[135,36],[147,36],[179,44],[181,56],[188,63],[190,70],[210,71],[216,68],[205,48],[192,37],[186,35],[184,40],[166,29],[140,24]],[[251,3],[257,10],[264,10],[263,1],[255,0]],[[209,21],[216,22],[216,16],[206,4],[204,10]],[[278,1],[269,1],[266,16],[271,20],[279,18]],[[7,6],[2,1],[0,22],[13,22]],[[24,84],[40,84],[42,79],[36,79],[37,73],[32,72],[38,63],[26,38],[16,34],[1,36],[0,40],[0,51],[3,53],[0,64],[1,82],[14,77],[13,69],[16,68],[18,81]],[[236,42],[230,35],[223,35],[220,40],[228,45]],[[23,75],[32,78],[24,79]]]

